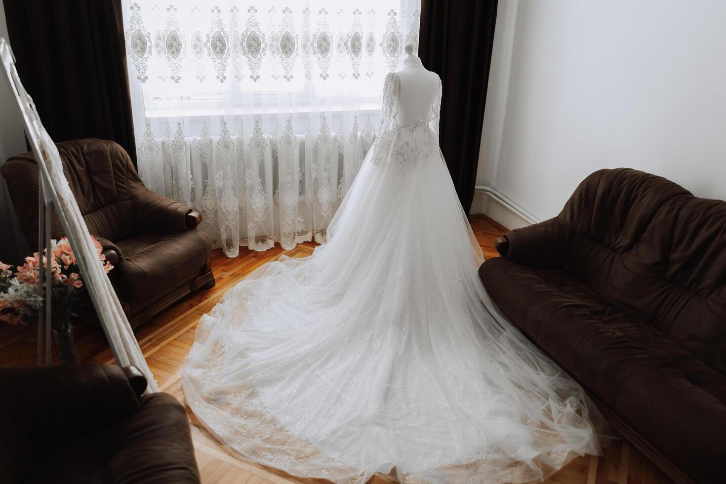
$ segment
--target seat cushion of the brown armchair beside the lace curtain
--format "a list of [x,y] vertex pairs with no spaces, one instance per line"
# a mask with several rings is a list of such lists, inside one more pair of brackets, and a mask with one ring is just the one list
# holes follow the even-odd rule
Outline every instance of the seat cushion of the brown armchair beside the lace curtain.
[[126,300],[149,300],[188,280],[205,267],[212,242],[199,230],[175,234],[144,233],[116,242],[123,261],[113,270],[116,287]]

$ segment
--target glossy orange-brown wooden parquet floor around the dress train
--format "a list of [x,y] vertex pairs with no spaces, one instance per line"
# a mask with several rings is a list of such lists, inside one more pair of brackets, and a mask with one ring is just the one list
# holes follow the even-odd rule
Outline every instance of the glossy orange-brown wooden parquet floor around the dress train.
[[[484,251],[484,257],[497,257],[494,239],[505,229],[486,218],[473,217],[471,225]],[[240,255],[231,259],[221,250],[212,256],[216,286],[206,292],[189,296],[174,307],[155,316],[152,321],[136,330],[136,338],[162,391],[184,401],[179,380],[184,356],[194,343],[194,332],[200,317],[211,311],[213,305],[229,288],[261,264],[285,254],[290,257],[311,255],[315,245],[305,243],[293,250],[279,246],[263,253],[240,247]],[[113,364],[113,356],[99,328],[80,327],[75,330],[76,344],[81,361]],[[36,328],[0,327],[0,366],[33,366],[36,364]],[[267,484],[312,483],[285,472],[261,466],[232,455],[200,425],[189,411],[197,464],[203,483]],[[623,440],[613,440],[603,449],[603,456],[584,456],[552,475],[547,483],[557,484],[660,484],[669,483],[664,475],[650,464],[640,452]],[[326,482],[326,481],[317,481]],[[372,483],[391,482],[387,476],[373,477]],[[371,483],[371,484],[372,484]]]

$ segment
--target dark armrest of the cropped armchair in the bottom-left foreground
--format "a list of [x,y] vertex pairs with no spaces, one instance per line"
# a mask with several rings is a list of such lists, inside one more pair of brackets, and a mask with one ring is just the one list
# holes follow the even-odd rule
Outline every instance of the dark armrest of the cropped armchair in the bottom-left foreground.
[[118,366],[4,368],[0,388],[4,438],[23,441],[25,451],[36,453],[129,417],[141,406]]

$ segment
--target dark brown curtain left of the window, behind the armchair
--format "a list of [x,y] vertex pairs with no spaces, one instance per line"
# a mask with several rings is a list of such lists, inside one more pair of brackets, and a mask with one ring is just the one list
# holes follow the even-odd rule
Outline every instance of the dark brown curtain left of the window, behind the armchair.
[[113,139],[136,165],[121,0],[4,7],[20,80],[52,139]]

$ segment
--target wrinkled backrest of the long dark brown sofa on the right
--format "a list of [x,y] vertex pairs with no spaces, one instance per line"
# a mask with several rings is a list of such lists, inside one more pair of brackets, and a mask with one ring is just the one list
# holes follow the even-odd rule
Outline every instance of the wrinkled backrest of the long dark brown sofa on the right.
[[726,202],[629,168],[582,181],[560,221],[565,269],[726,372]]

